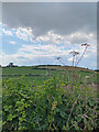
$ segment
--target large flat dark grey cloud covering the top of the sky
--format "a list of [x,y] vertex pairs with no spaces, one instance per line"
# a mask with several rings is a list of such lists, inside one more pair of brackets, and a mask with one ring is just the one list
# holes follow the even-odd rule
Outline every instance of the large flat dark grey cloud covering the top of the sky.
[[50,30],[63,35],[80,29],[96,33],[97,3],[6,2],[2,6],[2,21],[9,28],[31,26],[35,36]]

